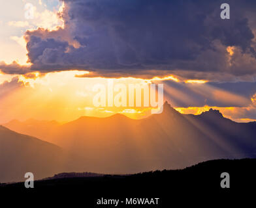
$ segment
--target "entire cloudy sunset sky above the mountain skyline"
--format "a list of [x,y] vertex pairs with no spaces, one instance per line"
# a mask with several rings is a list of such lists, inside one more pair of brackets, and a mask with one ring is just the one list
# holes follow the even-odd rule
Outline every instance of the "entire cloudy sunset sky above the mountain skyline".
[[[256,120],[256,2],[0,0],[0,123],[150,109],[99,108],[92,86],[163,83],[182,113]],[[27,6],[26,6],[27,5]],[[32,5],[33,16],[27,16]]]

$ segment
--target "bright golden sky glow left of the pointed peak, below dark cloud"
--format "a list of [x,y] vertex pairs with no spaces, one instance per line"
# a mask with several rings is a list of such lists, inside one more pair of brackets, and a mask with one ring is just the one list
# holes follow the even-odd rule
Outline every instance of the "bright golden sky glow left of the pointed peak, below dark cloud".
[[[95,107],[93,105],[92,88],[96,84],[107,85],[110,79],[99,77],[77,76],[89,73],[88,71],[61,71],[40,73],[31,72],[17,76],[22,87],[17,88],[1,99],[1,121],[12,119],[71,121],[80,116],[106,117],[112,114],[125,114],[129,118],[144,118],[151,114],[150,107]],[[1,77],[7,76],[1,74]],[[11,77],[8,79],[10,81]],[[125,85],[148,85],[145,79],[120,78],[111,79],[114,83]],[[115,94],[117,92],[114,92]],[[16,105],[19,103],[19,105]],[[29,107],[29,110],[27,110]],[[24,112],[26,112],[24,114]]]

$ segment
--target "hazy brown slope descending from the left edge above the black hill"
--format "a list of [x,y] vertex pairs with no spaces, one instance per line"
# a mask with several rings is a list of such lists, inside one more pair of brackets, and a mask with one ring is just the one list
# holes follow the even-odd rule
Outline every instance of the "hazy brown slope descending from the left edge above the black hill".
[[40,179],[61,169],[61,148],[0,125],[0,181],[23,181],[26,172]]

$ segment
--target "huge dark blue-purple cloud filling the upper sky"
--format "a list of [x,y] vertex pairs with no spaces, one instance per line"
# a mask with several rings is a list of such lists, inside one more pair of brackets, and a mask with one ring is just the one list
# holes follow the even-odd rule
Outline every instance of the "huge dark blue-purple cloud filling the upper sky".
[[[231,19],[225,20],[219,16],[220,0],[64,2],[65,29],[26,33],[31,70],[81,69],[101,75],[256,72],[255,1],[225,1],[231,6]],[[236,47],[232,57],[229,45]]]

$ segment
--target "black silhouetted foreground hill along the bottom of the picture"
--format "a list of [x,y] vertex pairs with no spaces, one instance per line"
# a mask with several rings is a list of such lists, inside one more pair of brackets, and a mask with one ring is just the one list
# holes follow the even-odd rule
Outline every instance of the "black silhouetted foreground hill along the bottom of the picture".
[[[72,207],[115,207],[97,205],[97,201],[102,198],[120,200],[116,207],[172,207],[177,203],[181,207],[187,203],[204,207],[209,204],[231,205],[237,200],[244,200],[242,197],[256,187],[255,166],[256,159],[221,159],[202,162],[183,170],[134,175],[70,177],[74,175],[72,173],[64,174],[65,177],[35,181],[35,188],[30,189],[26,189],[24,183],[2,184],[0,192],[11,198],[29,198],[31,205],[46,203],[69,204]],[[221,188],[222,172],[229,173],[230,188]],[[159,198],[158,205],[138,205],[140,198]],[[133,204],[127,204],[127,200],[131,202],[131,199]],[[18,201],[19,205],[22,200]],[[134,204],[135,201],[137,204]],[[243,203],[249,201],[253,201],[253,198],[246,195]]]

